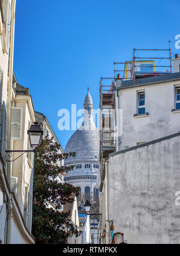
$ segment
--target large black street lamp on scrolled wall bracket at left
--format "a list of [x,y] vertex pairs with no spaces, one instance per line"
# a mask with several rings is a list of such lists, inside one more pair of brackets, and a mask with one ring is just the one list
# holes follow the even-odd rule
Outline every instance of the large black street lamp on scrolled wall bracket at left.
[[[43,135],[43,130],[41,130],[41,126],[38,124],[38,122],[34,122],[34,124],[31,125],[27,133],[29,136],[29,143],[32,149],[31,150],[6,150],[5,153],[8,155],[8,158],[12,157],[13,152],[23,152],[23,154],[29,153],[29,152],[34,152],[34,153],[36,152],[36,148],[40,146],[40,140],[41,140],[41,136]],[[21,157],[23,154],[19,155],[19,157]],[[8,160],[6,158],[6,160],[10,162],[15,161],[16,159]]]

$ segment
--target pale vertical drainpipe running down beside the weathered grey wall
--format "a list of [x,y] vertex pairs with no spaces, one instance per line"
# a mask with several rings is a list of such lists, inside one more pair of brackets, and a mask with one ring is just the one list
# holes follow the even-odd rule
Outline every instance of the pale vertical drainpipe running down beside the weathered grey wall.
[[109,229],[109,212],[108,212],[109,205],[108,205],[108,186],[107,186],[107,183],[108,183],[107,160],[105,160],[105,172],[106,172],[106,176],[105,176],[106,243],[109,244],[110,243],[110,239],[109,239],[110,229]]

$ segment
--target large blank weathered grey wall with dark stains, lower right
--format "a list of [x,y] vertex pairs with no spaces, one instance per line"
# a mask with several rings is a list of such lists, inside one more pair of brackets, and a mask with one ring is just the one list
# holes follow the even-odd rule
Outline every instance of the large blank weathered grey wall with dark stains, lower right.
[[109,158],[109,219],[127,243],[180,243],[180,136]]

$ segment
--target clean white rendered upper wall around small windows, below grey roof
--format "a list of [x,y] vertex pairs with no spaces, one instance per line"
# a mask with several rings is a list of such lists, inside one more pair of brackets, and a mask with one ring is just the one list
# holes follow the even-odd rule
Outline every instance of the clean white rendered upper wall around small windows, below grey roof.
[[[122,135],[119,137],[118,151],[180,130],[180,113],[172,112],[175,108],[175,85],[180,86],[180,81],[119,90]],[[134,114],[137,114],[136,99],[139,90],[145,91],[145,107],[149,113],[145,117],[134,117]]]

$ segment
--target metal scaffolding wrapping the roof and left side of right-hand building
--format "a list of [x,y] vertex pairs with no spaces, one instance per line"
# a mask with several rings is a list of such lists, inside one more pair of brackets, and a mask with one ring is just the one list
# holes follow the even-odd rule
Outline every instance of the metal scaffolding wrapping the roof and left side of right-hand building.
[[[148,56],[145,54],[148,52]],[[161,52],[162,55],[159,55]],[[158,76],[172,73],[172,50],[169,39],[169,49],[133,49],[133,58],[131,61],[115,62],[114,77],[103,78],[100,80],[100,170],[101,184],[103,187],[105,176],[104,161],[110,153],[116,150],[116,131],[115,131],[115,89],[119,81],[134,80],[148,76]],[[120,65],[120,68],[117,68]],[[123,66],[122,66],[123,65]],[[118,66],[119,67],[119,66]],[[163,70],[162,70],[163,69]],[[116,138],[117,139],[117,138]]]

